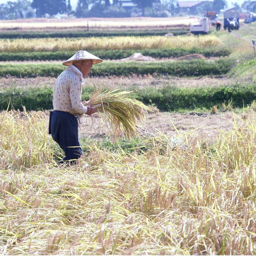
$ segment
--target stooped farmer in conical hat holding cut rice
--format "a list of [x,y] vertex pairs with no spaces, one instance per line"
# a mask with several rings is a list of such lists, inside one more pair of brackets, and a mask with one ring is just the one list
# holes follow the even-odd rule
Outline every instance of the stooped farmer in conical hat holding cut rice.
[[83,114],[91,116],[96,109],[84,106],[81,100],[82,84],[93,64],[102,60],[89,52],[76,52],[62,64],[68,66],[57,78],[53,90],[53,111],[50,112],[49,134],[65,152],[58,164],[73,165],[83,154],[78,140],[78,120]]

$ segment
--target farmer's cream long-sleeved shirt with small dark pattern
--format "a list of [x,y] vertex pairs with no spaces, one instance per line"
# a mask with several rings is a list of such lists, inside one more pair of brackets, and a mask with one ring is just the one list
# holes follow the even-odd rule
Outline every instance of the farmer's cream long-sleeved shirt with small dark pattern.
[[84,114],[87,107],[81,103],[82,83],[84,78],[81,71],[74,65],[69,66],[57,78],[53,90],[53,110]]

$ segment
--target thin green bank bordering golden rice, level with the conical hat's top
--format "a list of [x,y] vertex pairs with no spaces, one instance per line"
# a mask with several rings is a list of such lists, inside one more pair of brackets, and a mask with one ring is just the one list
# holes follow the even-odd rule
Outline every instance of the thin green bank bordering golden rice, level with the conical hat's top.
[[[175,48],[175,49],[127,49],[127,50],[92,50],[95,56],[103,60],[117,60],[131,56],[134,52],[140,52],[144,56],[153,58],[181,57],[187,54],[199,53],[205,57],[228,56],[231,51],[228,48],[206,47],[206,48]],[[75,51],[57,52],[0,52],[0,61],[24,61],[24,60],[67,60],[74,55]]]

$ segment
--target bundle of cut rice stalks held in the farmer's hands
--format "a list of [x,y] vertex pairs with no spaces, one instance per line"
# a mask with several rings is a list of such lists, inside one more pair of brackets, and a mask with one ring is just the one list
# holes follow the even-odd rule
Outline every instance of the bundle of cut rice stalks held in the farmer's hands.
[[118,89],[92,93],[86,105],[96,107],[100,116],[105,116],[109,123],[114,138],[122,133],[130,138],[138,135],[138,128],[146,119],[149,107],[135,99],[131,91],[120,92]]

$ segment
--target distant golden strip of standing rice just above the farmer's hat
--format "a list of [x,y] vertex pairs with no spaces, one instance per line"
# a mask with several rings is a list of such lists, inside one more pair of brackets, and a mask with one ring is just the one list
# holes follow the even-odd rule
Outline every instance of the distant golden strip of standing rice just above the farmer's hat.
[[0,52],[174,49],[221,46],[216,36],[114,36],[89,38],[0,39]]

